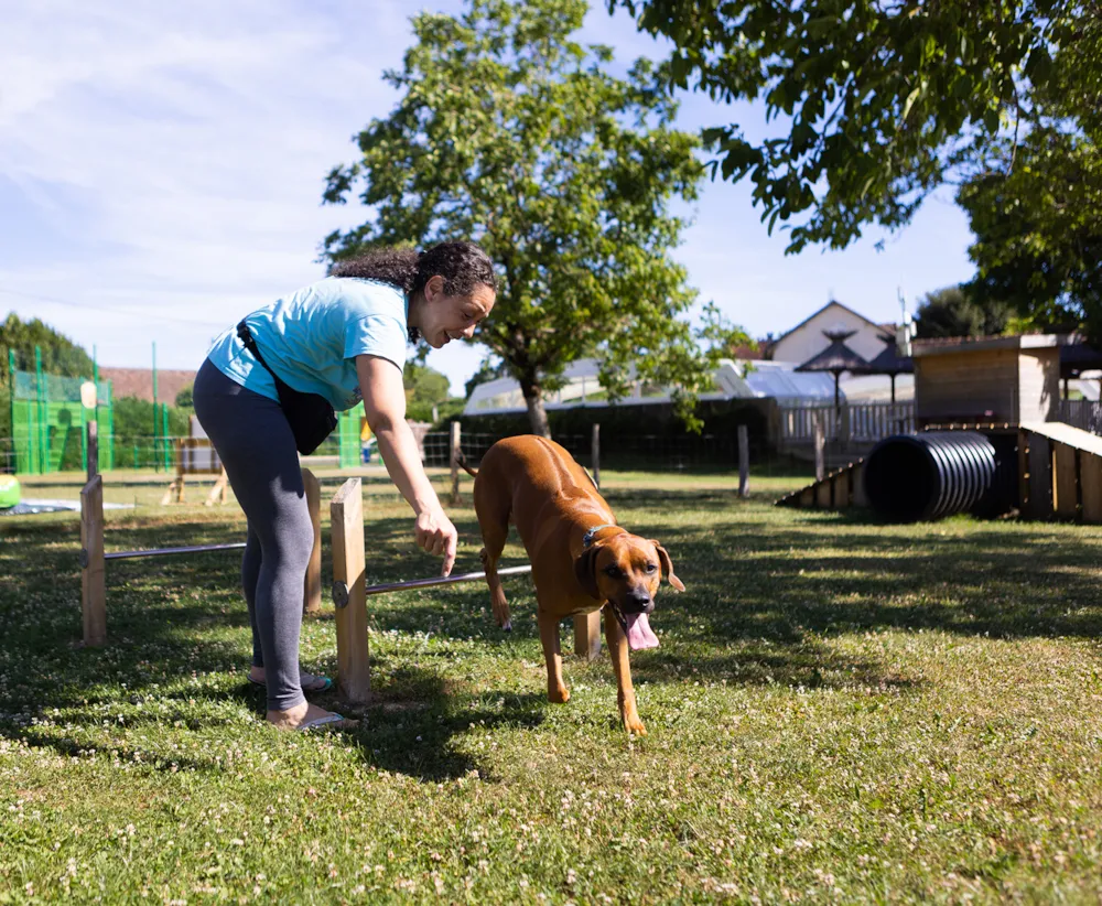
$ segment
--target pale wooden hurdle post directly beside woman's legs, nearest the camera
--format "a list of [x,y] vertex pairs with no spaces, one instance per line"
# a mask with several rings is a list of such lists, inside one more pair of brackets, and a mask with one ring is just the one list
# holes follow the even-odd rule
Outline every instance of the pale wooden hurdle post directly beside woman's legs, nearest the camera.
[[[333,535],[333,591],[336,605],[337,693],[352,704],[371,698],[367,649],[367,587],[364,576],[364,496],[349,478],[329,504]],[[339,590],[339,591],[338,591]]]

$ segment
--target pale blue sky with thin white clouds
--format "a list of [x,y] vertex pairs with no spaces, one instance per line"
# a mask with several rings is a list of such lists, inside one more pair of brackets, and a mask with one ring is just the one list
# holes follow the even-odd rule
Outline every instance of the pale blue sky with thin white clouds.
[[[423,9],[456,12],[452,0]],[[318,279],[322,237],[363,222],[322,206],[352,137],[385,117],[382,83],[411,42],[411,3],[385,0],[40,0],[0,30],[0,314],[37,316],[114,366],[196,368],[214,335]],[[617,64],[663,47],[595,7],[583,40]],[[682,98],[679,126],[764,128],[759,106]],[[887,236],[785,256],[748,185],[710,182],[677,257],[701,301],[755,336],[832,295],[876,321],[972,273],[948,193]],[[484,349],[433,352],[453,390]]]

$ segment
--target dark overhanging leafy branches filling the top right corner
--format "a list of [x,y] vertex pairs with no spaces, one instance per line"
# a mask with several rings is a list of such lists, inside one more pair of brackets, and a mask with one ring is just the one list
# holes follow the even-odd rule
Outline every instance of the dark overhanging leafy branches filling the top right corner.
[[[676,45],[669,87],[765,100],[766,134],[705,131],[724,179],[749,176],[789,251],[896,228],[993,137],[1020,137],[1035,93],[1074,74],[1102,116],[1100,0],[607,0]],[[1093,86],[1093,87],[1092,87]]]

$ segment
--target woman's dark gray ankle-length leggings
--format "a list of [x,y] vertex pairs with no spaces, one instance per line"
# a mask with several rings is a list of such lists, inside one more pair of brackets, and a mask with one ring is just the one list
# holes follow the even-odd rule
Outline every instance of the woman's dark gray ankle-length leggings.
[[195,376],[195,414],[226,466],[249,521],[241,582],[252,662],[264,668],[268,710],[305,701],[299,683],[302,586],[314,544],[294,435],[274,400],[246,390],[209,359]]

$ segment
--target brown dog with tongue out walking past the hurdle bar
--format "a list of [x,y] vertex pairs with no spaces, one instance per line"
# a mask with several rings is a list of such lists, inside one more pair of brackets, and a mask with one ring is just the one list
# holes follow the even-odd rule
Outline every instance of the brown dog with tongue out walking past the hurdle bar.
[[653,648],[650,629],[662,570],[684,591],[670,557],[658,541],[616,525],[608,504],[586,472],[553,441],[534,435],[507,438],[483,457],[475,478],[475,511],[482,528],[482,561],[494,616],[511,628],[497,562],[516,525],[532,564],[540,640],[548,664],[548,699],[565,702],[559,622],[604,607],[605,640],[613,658],[624,727],[646,734],[635,704],[628,648]]

